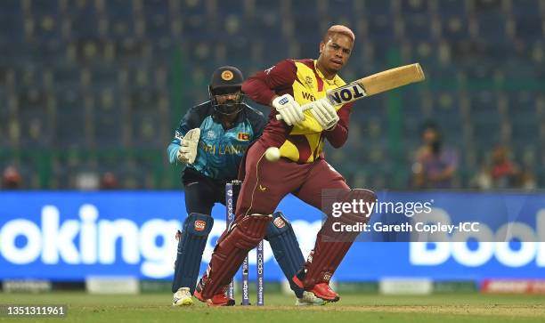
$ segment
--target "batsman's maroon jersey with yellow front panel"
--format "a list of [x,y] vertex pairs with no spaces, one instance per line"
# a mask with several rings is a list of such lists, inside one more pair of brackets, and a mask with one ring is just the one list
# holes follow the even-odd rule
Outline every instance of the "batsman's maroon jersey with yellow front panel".
[[[346,83],[337,75],[332,79],[323,77],[314,60],[286,60],[249,77],[242,85],[242,91],[264,105],[270,105],[275,95],[288,93],[303,106],[342,85]],[[259,141],[265,147],[280,148],[282,157],[297,163],[311,163],[322,156],[324,138],[335,148],[346,142],[352,103],[338,105],[335,109],[339,121],[330,131],[321,127],[310,110],[305,111],[305,121],[301,125],[289,126],[276,119],[277,112],[273,109]]]

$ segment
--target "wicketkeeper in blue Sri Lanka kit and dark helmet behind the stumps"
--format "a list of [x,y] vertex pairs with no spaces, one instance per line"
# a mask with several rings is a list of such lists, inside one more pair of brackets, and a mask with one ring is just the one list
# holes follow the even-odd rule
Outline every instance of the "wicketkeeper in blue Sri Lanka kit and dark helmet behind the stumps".
[[[240,161],[248,146],[263,133],[265,118],[244,103],[242,73],[232,66],[216,69],[208,86],[209,101],[191,108],[168,145],[171,164],[182,163],[187,218],[177,234],[178,248],[172,284],[173,305],[193,303],[202,254],[214,225],[212,207],[225,203],[225,183],[237,179]],[[305,262],[289,221],[277,212],[266,228],[266,239],[287,278]],[[323,301],[295,283],[292,290],[297,305],[316,305]],[[214,303],[233,305],[224,291],[216,293]]]

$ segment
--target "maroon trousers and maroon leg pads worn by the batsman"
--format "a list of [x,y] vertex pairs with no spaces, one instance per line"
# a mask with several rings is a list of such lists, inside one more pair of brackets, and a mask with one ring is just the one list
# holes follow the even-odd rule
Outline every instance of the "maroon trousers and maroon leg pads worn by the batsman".
[[[264,238],[266,225],[253,226],[262,232],[249,231],[249,229],[248,232],[241,232],[249,227],[237,224],[247,222],[249,215],[273,214],[281,199],[289,193],[317,208],[321,208],[321,193],[324,189],[338,189],[349,195],[350,188],[346,185],[343,176],[329,166],[324,159],[321,158],[309,164],[297,164],[285,158],[270,162],[264,157],[265,149],[266,147],[257,141],[248,150],[244,165],[244,182],[237,201],[234,225],[232,230],[224,232],[218,240],[206,279],[203,279],[203,281],[209,281],[209,284],[205,282],[202,293],[207,298],[221,292],[221,288],[229,284],[232,275],[240,268],[245,254],[257,245],[255,242],[255,246],[250,246],[247,239],[242,238],[245,241],[241,241],[241,237]],[[286,211],[289,214],[289,210]],[[242,221],[242,219],[246,220]],[[234,227],[236,229],[233,229]],[[326,232],[324,228],[318,232],[313,256],[309,257],[305,263],[306,278],[303,282],[305,289],[310,289],[317,283],[329,282],[331,275],[353,243],[353,241],[324,241],[322,236]]]

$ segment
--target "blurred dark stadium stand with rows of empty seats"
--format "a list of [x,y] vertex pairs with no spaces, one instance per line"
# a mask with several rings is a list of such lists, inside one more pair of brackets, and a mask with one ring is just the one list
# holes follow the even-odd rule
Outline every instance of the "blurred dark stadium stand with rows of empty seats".
[[177,189],[165,149],[217,66],[246,76],[314,58],[356,32],[346,80],[419,61],[427,82],[358,102],[329,160],[354,186],[408,188],[419,125],[460,152],[468,188],[495,143],[545,186],[545,2],[540,0],[3,0],[0,167],[26,189],[112,171],[126,189]]

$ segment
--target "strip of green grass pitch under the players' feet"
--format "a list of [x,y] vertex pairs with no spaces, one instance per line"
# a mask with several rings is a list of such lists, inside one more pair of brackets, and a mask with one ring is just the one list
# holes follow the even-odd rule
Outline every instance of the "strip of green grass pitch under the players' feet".
[[[240,301],[240,295],[239,300]],[[252,295],[254,296],[254,295]],[[435,294],[341,295],[338,303],[296,307],[293,296],[265,295],[265,306],[174,308],[171,295],[84,293],[0,294],[0,304],[67,304],[65,318],[7,319],[12,322],[545,322],[545,295]]]

